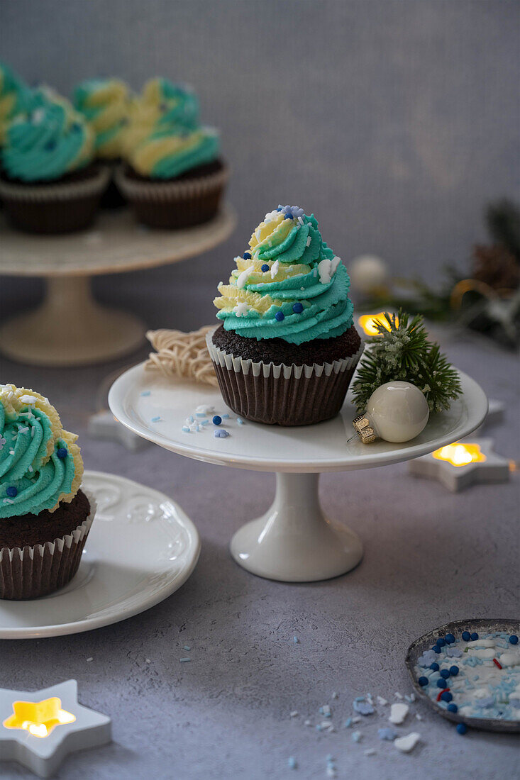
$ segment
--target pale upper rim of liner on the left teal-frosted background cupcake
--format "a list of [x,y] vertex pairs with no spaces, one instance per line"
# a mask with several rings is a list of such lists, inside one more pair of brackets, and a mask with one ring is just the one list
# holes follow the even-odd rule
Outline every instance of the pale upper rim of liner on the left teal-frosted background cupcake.
[[102,193],[109,183],[110,176],[110,168],[106,165],[100,165],[94,176],[77,182],[57,181],[31,186],[30,183],[15,184],[0,179],[0,197],[30,203],[45,203],[48,200],[77,200]]

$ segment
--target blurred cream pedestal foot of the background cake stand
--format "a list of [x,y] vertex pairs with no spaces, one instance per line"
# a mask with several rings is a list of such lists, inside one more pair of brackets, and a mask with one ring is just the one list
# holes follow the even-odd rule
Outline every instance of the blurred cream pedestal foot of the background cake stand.
[[82,366],[134,352],[144,324],[91,295],[87,276],[48,277],[43,303],[0,328],[2,352],[20,363]]

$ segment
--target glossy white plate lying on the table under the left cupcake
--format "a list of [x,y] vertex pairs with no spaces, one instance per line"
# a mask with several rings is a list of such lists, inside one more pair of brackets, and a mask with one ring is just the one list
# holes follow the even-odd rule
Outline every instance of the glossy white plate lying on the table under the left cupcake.
[[186,582],[201,551],[180,506],[123,477],[86,471],[98,511],[77,575],[30,601],[0,599],[0,639],[62,636],[109,626],[153,607]]

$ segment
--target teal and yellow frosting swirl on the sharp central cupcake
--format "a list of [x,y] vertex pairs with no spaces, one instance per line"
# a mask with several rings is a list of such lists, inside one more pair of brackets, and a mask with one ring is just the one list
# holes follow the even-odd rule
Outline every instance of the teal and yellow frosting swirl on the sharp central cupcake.
[[331,339],[351,327],[350,278],[322,240],[314,215],[278,207],[265,215],[244,254],[215,299],[226,330],[301,344]]

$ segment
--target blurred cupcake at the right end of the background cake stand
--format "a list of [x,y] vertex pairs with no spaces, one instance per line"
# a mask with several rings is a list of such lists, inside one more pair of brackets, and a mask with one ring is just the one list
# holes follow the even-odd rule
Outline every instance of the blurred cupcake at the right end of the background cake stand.
[[134,101],[116,180],[145,225],[186,228],[218,211],[228,172],[219,133],[200,124],[198,111],[191,90],[162,78]]

